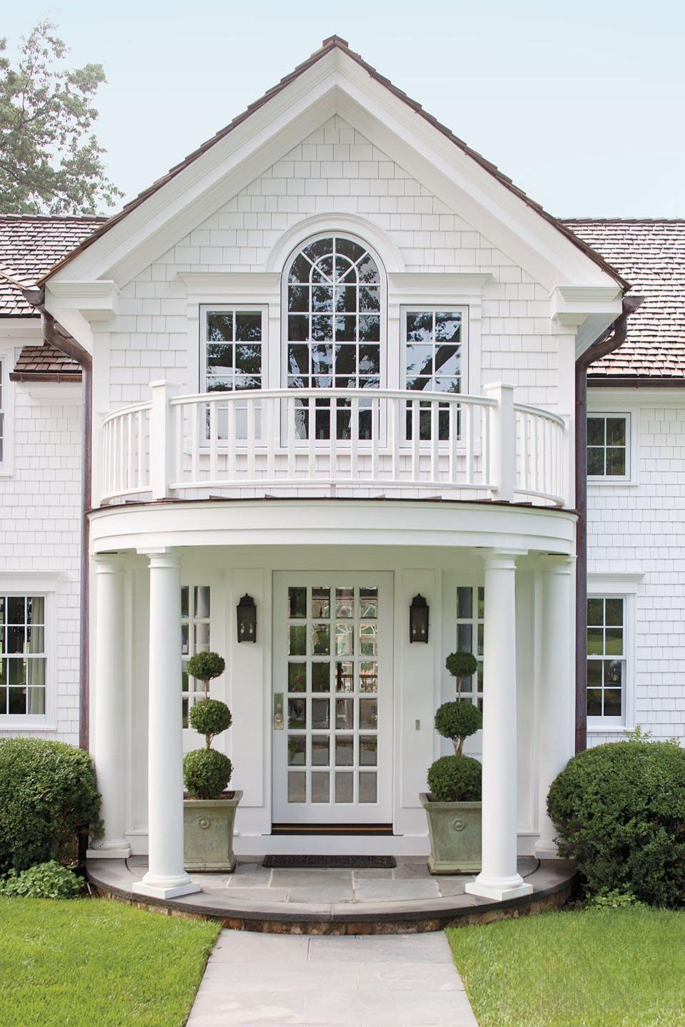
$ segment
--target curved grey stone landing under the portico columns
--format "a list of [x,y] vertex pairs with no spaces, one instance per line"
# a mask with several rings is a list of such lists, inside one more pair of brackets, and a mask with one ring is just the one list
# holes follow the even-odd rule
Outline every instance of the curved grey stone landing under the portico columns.
[[519,873],[533,893],[498,903],[464,892],[473,875],[433,877],[419,858],[401,858],[394,870],[268,870],[242,860],[233,874],[191,874],[201,891],[162,901],[132,895],[146,869],[145,857],[87,862],[100,895],[274,934],[406,934],[486,923],[563,906],[575,881],[570,863],[522,857]]

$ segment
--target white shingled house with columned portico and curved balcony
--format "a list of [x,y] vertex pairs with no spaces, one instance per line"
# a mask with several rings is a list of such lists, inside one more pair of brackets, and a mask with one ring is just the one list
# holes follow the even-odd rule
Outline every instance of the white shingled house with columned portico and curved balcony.
[[427,852],[473,651],[494,899],[585,727],[685,733],[684,245],[551,217],[338,37],[115,217],[0,218],[0,730],[90,748],[96,854],[196,887],[197,651],[242,855]]

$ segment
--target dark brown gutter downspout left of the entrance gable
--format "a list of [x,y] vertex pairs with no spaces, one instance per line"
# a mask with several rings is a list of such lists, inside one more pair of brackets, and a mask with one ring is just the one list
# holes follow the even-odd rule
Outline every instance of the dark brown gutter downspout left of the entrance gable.
[[[90,616],[89,559],[90,525],[87,511],[91,505],[92,483],[92,356],[80,342],[45,309],[45,289],[23,289],[26,300],[40,311],[43,339],[54,349],[70,356],[81,367],[83,385],[83,417],[81,433],[81,566],[80,566],[80,650],[79,650],[79,715],[78,744],[88,751],[90,717]],[[33,381],[36,376],[33,376]],[[54,377],[50,378],[53,381]],[[73,377],[70,376],[70,381]]]

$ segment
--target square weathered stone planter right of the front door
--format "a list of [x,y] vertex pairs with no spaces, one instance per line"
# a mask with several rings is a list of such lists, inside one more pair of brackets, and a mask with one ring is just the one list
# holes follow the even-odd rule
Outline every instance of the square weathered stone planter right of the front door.
[[428,819],[431,874],[472,874],[481,870],[480,802],[436,802],[419,795]]

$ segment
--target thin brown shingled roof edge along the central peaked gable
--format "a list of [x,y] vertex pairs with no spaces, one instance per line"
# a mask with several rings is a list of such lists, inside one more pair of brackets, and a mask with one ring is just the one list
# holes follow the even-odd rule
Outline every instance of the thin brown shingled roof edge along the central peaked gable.
[[[450,128],[442,124],[442,122],[440,122],[437,118],[434,118],[432,114],[428,114],[427,111],[424,111],[420,104],[418,104],[415,100],[412,100],[411,97],[408,97],[407,93],[404,92],[402,89],[397,88],[396,85],[393,85],[392,82],[389,80],[389,78],[385,78],[384,75],[381,75],[380,72],[376,71],[376,69],[372,67],[372,65],[368,64],[359,53],[356,53],[354,50],[351,50],[347,40],[342,39],[340,36],[329,36],[328,39],[325,39],[320,47],[317,50],[314,50],[311,56],[307,58],[306,61],[303,61],[302,64],[298,65],[297,68],[295,68],[294,71],[290,73],[290,75],[286,75],[283,78],[281,78],[281,80],[277,82],[276,85],[272,86],[270,89],[267,89],[267,91],[264,93],[263,97],[260,97],[259,100],[256,100],[253,104],[251,104],[246,110],[244,110],[241,114],[238,114],[235,118],[233,118],[233,120],[229,124],[227,124],[224,128],[221,128],[215,136],[212,137],[212,139],[206,140],[206,142],[198,146],[196,150],[193,150],[192,153],[189,153],[187,157],[185,157],[182,161],[180,161],[180,163],[175,164],[174,167],[169,168],[166,175],[163,175],[161,178],[157,179],[156,182],[153,182],[151,186],[148,186],[148,188],[145,189],[142,193],[139,193],[139,195],[136,196],[135,199],[130,200],[130,202],[126,203],[125,206],[123,206],[118,214],[115,214],[112,218],[110,218],[107,221],[105,225],[102,225],[96,232],[93,232],[92,235],[85,238],[77,246],[77,249],[74,251],[73,254],[69,254],[68,256],[60,260],[60,262],[56,263],[56,265],[51,269],[50,273],[56,271],[58,268],[62,267],[64,264],[68,264],[69,261],[72,260],[72,258],[75,257],[77,253],[79,253],[81,250],[85,250],[87,246],[90,245],[91,242],[94,242],[97,238],[99,238],[105,232],[108,232],[110,228],[112,228],[114,225],[117,224],[117,222],[121,221],[122,218],[125,218],[125,216],[130,211],[134,211],[137,206],[140,206],[140,204],[145,202],[145,200],[149,196],[157,192],[158,189],[161,189],[161,187],[166,185],[167,182],[170,182],[172,179],[176,178],[176,176],[180,172],[184,170],[184,168],[192,164],[193,161],[197,160],[198,157],[201,157],[202,154],[206,153],[206,151],[210,150],[215,145],[215,143],[218,143],[220,140],[224,139],[225,136],[227,136],[230,131],[236,128],[239,124],[242,124],[242,122],[245,121],[251,114],[254,114],[255,111],[259,110],[260,107],[263,107],[264,104],[268,103],[269,100],[271,100],[282,89],[284,89],[291,82],[299,78],[299,76],[302,75],[309,68],[311,68],[312,65],[315,65],[318,61],[320,61],[328,53],[331,53],[335,49],[342,50],[343,53],[345,53],[348,58],[354,61],[355,64],[357,64],[360,68],[363,68],[371,78],[375,79],[375,81],[380,82],[381,85],[385,86],[385,88],[388,89],[398,100],[401,100],[402,103],[410,107],[415,114],[417,114],[419,117],[423,118],[425,121],[431,124],[434,128],[437,129],[437,131],[440,131],[443,136],[449,139],[450,142],[454,143],[455,146],[459,147],[459,149],[462,150],[463,153],[465,153],[468,157],[474,160],[477,164],[480,164],[481,167],[485,168],[485,170],[488,172],[489,175],[492,175],[493,178],[497,179],[497,181],[500,182],[505,189],[508,189],[516,196],[522,199],[524,203],[526,203],[532,210],[536,211],[541,218],[544,218],[544,220],[547,221],[550,225],[553,225],[559,232],[561,232],[562,235],[565,235],[574,245],[578,246],[579,250],[582,250],[582,252],[585,254],[586,257],[589,258],[589,260],[594,261],[607,274],[609,274],[612,278],[614,278],[614,280],[617,281],[617,283],[621,288],[623,289],[627,288],[627,282],[625,281],[625,279],[623,279],[621,275],[617,273],[615,268],[611,267],[611,265],[606,260],[604,260],[603,257],[597,254],[592,249],[592,246],[588,246],[578,235],[570,231],[562,221],[560,221],[558,218],[555,218],[547,211],[545,211],[544,207],[540,205],[540,203],[537,203],[535,200],[531,199],[530,196],[528,196],[523,191],[523,189],[520,189],[519,186],[515,185],[511,179],[508,178],[508,176],[504,175],[504,173],[501,172],[496,166],[496,164],[493,164],[490,160],[487,160],[487,158],[484,157],[483,154],[478,153],[475,150],[472,150],[470,146],[464,143],[463,140],[455,136]],[[49,275],[45,273],[43,277],[40,279],[39,283],[43,284],[43,282],[47,279],[48,276]]]

